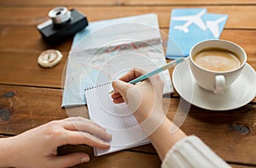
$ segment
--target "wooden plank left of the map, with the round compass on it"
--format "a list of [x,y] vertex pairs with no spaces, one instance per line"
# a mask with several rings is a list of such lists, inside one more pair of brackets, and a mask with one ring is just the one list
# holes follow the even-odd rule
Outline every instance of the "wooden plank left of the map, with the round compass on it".
[[1,83],[26,85],[36,87],[61,88],[63,67],[66,64],[67,53],[60,64],[51,69],[38,65],[40,52],[4,52],[0,53]]

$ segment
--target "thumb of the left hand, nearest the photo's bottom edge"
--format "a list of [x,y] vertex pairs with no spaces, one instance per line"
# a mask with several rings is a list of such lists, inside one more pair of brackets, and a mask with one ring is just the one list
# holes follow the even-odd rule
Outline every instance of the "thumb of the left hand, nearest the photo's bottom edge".
[[74,165],[79,165],[88,161],[90,161],[90,156],[88,154],[74,153],[63,156],[55,156],[50,163],[60,167],[73,167]]

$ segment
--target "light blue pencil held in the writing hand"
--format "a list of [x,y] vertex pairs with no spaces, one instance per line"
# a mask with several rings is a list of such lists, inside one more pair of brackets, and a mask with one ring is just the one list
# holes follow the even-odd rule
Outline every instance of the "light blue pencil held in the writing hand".
[[[143,76],[139,76],[136,79],[134,79],[132,81],[129,81],[128,83],[136,84],[139,81],[144,81],[144,80],[148,79],[151,76],[154,76],[154,75],[156,75],[156,74],[158,74],[158,73],[160,73],[164,70],[167,70],[167,69],[170,69],[170,68],[176,66],[179,63],[182,63],[183,61],[184,61],[184,58],[175,59],[175,60],[171,61],[170,63],[168,63],[168,64],[166,64],[166,65],[164,65],[164,66],[162,66],[162,67],[160,67],[156,70],[152,70],[151,72],[148,72],[147,74],[144,74]],[[109,92],[109,94],[110,93],[113,93],[113,91]]]

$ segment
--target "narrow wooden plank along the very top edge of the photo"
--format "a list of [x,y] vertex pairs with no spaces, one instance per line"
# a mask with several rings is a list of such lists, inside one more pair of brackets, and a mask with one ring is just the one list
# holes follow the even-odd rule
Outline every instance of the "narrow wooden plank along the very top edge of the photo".
[[63,4],[66,5],[190,5],[190,4],[207,4],[207,5],[223,5],[223,4],[230,4],[230,5],[236,5],[236,4],[255,4],[255,1],[252,0],[216,0],[216,1],[210,1],[210,0],[195,0],[195,1],[189,1],[189,0],[160,0],[160,1],[150,1],[150,0],[99,0],[99,1],[90,1],[90,0],[23,0],[22,2],[19,0],[2,0],[0,2],[1,6],[61,6]]

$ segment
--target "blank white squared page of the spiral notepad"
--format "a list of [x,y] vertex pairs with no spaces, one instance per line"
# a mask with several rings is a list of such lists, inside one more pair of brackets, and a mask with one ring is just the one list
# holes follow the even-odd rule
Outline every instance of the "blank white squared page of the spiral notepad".
[[112,134],[110,148],[94,148],[96,156],[116,152],[125,148],[137,147],[149,143],[146,134],[131,114],[126,104],[113,104],[111,83],[85,89],[85,97],[90,120],[105,127]]

